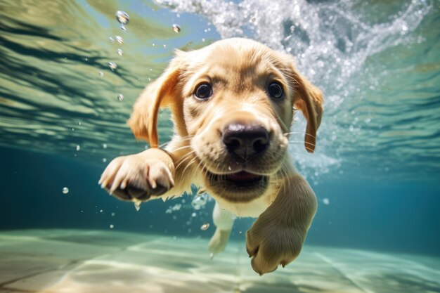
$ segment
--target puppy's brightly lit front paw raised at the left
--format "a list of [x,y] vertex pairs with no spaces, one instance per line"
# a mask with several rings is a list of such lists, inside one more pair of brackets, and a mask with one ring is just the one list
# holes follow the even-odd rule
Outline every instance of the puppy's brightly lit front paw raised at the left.
[[113,159],[98,183],[121,200],[144,201],[166,193],[174,178],[167,164],[141,153]]

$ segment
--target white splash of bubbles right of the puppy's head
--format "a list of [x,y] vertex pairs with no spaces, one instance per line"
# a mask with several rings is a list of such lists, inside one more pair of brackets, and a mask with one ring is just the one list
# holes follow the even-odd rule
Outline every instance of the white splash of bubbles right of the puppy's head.
[[[313,156],[304,150],[304,117],[300,115],[292,126],[292,131],[296,133],[292,134],[289,152],[299,157],[296,162],[299,171],[310,177],[314,177],[315,169],[319,169],[322,175],[339,168],[342,153],[348,151],[358,155],[359,149],[352,148],[354,141],[357,146],[362,143],[370,150],[370,132],[362,129],[361,123],[341,117],[341,107],[354,107],[362,99],[370,98],[367,96],[368,89],[377,91],[387,68],[379,68],[377,72],[380,74],[368,72],[368,67],[376,66],[368,64],[368,60],[384,52],[390,54],[400,45],[415,43],[416,40],[410,39],[414,37],[411,33],[415,32],[433,7],[432,1],[408,0],[399,6],[398,13],[381,20],[380,17],[369,15],[368,10],[363,14],[362,10],[355,9],[352,1],[156,2],[176,13],[202,15],[209,24],[214,25],[221,39],[246,37],[295,57],[298,71],[325,93],[325,115],[319,129],[319,145]],[[419,40],[417,43],[420,44]],[[384,56],[380,55],[381,58]],[[360,115],[370,114],[356,112],[351,116]],[[360,119],[360,122],[364,121],[365,117]],[[375,122],[377,120],[375,117]],[[370,119],[365,123],[370,123]],[[347,129],[341,129],[341,124],[347,125]],[[373,127],[371,124],[369,128]],[[344,135],[347,132],[348,138]],[[337,139],[332,139],[336,136]]]

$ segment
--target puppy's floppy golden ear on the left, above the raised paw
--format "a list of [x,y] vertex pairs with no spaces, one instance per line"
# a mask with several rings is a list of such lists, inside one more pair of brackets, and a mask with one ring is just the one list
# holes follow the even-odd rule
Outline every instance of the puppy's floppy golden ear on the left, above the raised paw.
[[157,148],[159,137],[157,134],[157,115],[159,109],[173,107],[181,103],[180,91],[177,88],[181,74],[181,55],[176,52],[176,57],[169,63],[167,69],[154,82],[148,84],[138,96],[133,106],[133,112],[127,124],[137,139],[143,138],[150,143],[151,148]]

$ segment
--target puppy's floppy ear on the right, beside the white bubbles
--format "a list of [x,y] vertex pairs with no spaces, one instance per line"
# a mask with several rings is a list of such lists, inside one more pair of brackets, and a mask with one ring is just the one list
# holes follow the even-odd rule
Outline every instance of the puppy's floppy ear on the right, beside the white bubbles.
[[316,131],[321,124],[323,114],[323,93],[311,82],[294,70],[295,90],[299,98],[294,102],[295,108],[301,110],[307,120],[306,136],[304,145],[307,152],[313,152],[316,145]]

